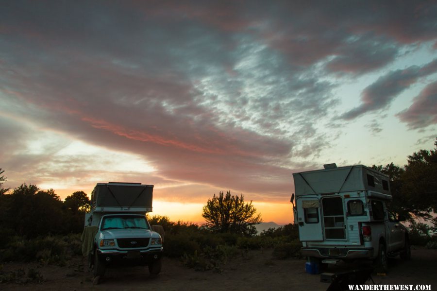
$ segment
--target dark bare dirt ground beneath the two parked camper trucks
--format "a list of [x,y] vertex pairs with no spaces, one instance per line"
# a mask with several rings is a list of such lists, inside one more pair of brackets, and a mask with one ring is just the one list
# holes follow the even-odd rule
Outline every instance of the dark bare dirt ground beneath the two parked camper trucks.
[[[147,267],[108,268],[101,284],[93,285],[92,272],[85,261],[76,258],[66,267],[10,263],[4,271],[17,268],[37,268],[43,283],[0,284],[0,290],[326,290],[320,275],[305,273],[305,260],[277,260],[271,250],[252,251],[228,261],[221,274],[214,271],[196,272],[177,259],[163,259],[161,274],[151,278]],[[327,272],[338,272],[356,264],[330,266]],[[390,260],[386,276],[373,275],[375,284],[428,284],[437,290],[437,250],[413,249],[412,260]],[[434,289],[433,289],[434,288]]]

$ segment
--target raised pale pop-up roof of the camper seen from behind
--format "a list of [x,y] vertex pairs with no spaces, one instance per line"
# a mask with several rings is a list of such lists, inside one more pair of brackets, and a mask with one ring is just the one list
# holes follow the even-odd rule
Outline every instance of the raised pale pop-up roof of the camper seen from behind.
[[388,176],[363,165],[293,173],[296,196],[376,191],[390,195]]

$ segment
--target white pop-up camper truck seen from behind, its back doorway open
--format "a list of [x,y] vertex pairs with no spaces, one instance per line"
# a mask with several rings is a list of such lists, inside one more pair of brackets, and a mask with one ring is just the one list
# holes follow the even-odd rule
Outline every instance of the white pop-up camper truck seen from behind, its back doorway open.
[[[363,165],[293,173],[295,223],[310,262],[372,259],[381,272],[387,257],[410,258],[406,228],[387,209],[387,175]],[[293,202],[292,197],[292,202]]]

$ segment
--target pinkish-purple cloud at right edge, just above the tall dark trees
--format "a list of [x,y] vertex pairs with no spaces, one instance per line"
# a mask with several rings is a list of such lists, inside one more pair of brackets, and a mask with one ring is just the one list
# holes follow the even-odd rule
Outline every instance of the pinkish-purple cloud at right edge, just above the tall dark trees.
[[424,128],[437,123],[437,82],[426,86],[408,109],[399,112],[399,119],[410,129]]

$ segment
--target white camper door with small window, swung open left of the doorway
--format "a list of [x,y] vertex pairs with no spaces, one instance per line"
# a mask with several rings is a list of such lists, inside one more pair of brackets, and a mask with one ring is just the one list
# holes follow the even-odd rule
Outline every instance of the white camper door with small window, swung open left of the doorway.
[[296,199],[301,241],[322,241],[323,233],[320,221],[320,203],[317,198]]

